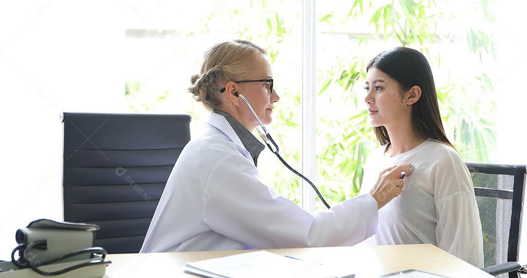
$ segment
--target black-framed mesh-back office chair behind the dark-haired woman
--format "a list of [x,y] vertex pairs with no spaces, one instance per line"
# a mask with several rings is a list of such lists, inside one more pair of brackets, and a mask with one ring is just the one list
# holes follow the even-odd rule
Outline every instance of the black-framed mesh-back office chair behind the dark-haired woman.
[[[483,230],[487,273],[519,277],[525,165],[467,162],[472,175]],[[509,273],[509,274],[507,274]]]

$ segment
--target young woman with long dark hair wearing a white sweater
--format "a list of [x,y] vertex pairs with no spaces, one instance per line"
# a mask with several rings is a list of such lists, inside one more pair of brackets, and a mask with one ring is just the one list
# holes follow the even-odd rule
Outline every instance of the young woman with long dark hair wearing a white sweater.
[[430,65],[396,47],[367,66],[365,102],[380,146],[368,155],[360,193],[383,169],[411,163],[401,195],[379,210],[375,245],[434,244],[483,267],[481,222],[471,176],[445,135]]

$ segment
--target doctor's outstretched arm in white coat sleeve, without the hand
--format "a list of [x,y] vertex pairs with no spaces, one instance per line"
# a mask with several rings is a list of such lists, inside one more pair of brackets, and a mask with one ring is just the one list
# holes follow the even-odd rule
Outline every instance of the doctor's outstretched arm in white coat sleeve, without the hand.
[[258,249],[354,245],[373,235],[379,204],[365,194],[310,214],[262,183],[247,158],[229,154],[207,182],[203,220]]

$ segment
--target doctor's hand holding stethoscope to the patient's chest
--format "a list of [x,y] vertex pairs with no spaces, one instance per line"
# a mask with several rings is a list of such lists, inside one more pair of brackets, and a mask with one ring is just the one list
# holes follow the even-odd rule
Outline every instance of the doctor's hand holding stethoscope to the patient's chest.
[[383,207],[393,198],[399,196],[404,187],[404,180],[401,179],[401,172],[411,174],[412,168],[409,164],[389,167],[379,173],[377,182],[369,194],[375,198],[379,208]]

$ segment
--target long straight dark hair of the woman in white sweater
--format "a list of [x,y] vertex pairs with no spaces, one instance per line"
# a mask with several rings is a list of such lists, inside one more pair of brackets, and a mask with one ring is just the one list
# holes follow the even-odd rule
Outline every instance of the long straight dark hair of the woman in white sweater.
[[[415,133],[423,139],[454,147],[445,135],[437,104],[434,76],[430,64],[421,52],[408,47],[395,47],[375,56],[368,63],[366,71],[371,67],[378,68],[391,76],[403,91],[419,86],[422,92],[421,98],[412,105],[412,124]],[[381,145],[390,143],[388,131],[384,126],[375,127],[375,136]]]

